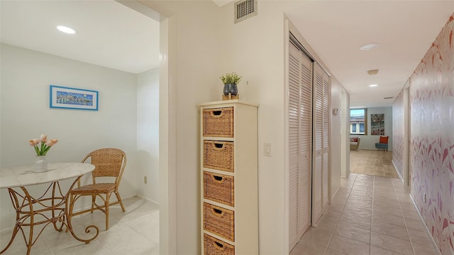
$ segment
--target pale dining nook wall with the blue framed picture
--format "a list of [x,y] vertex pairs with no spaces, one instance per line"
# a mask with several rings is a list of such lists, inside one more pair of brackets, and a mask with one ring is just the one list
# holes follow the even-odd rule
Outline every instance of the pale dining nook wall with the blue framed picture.
[[[0,167],[32,164],[28,140],[43,133],[59,139],[48,152],[50,163],[80,162],[96,148],[117,147],[128,156],[121,195],[135,195],[136,82],[128,72],[1,44]],[[97,90],[99,110],[50,109],[49,85]],[[6,229],[15,215],[7,190],[0,192],[0,225]]]

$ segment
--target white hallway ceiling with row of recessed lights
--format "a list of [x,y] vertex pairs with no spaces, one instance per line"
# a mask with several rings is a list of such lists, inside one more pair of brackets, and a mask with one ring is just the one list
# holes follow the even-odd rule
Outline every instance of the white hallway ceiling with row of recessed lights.
[[[390,107],[453,12],[453,0],[305,1],[287,16],[348,91],[350,107]],[[360,50],[366,43],[380,45]]]

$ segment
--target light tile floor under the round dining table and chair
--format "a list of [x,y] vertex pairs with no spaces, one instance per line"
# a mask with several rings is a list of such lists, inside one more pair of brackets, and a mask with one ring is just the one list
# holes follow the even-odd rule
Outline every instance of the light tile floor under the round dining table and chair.
[[[140,197],[123,200],[126,212],[119,205],[110,207],[109,230],[105,230],[105,217],[102,212],[78,215],[72,220],[76,234],[89,238],[84,229],[89,224],[99,227],[99,236],[89,244],[79,242],[69,232],[56,232],[52,226],[45,227],[43,234],[32,246],[31,254],[36,255],[139,255],[159,254],[159,207]],[[11,232],[0,237],[3,249],[11,238]],[[22,235],[16,236],[13,244],[4,253],[26,254]]]

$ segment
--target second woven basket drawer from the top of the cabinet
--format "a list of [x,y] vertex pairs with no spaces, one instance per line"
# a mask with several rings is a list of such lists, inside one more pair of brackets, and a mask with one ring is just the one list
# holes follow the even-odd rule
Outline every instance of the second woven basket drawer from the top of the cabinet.
[[204,141],[204,168],[233,172],[233,142]]

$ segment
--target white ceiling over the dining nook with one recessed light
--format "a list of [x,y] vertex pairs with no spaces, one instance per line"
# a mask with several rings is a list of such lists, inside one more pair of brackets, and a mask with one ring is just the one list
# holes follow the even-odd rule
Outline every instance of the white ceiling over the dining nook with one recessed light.
[[1,43],[135,74],[159,66],[159,22],[116,1],[0,4]]

